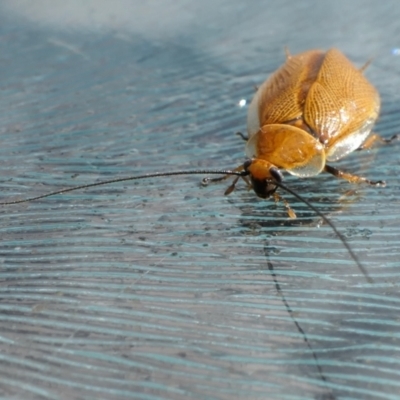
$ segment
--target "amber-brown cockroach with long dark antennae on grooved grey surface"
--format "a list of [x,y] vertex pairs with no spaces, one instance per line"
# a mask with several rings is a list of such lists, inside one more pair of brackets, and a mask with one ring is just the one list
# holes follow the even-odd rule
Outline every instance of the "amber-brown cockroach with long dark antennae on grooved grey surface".
[[[377,90],[363,76],[367,67],[356,68],[339,50],[326,52],[310,50],[297,55],[286,52],[286,62],[257,90],[250,103],[247,117],[246,155],[248,159],[233,170],[194,170],[156,172],[122,177],[61,189],[22,200],[0,203],[17,204],[43,199],[73,190],[87,189],[137,179],[174,175],[222,175],[205,178],[203,183],[236,176],[225,191],[230,194],[239,180],[252,188],[257,196],[276,201],[281,197],[277,188],[305,203],[328,224],[343,243],[366,279],[367,271],[335,225],[308,200],[283,184],[282,170],[300,178],[318,175],[322,171],[351,183],[385,186],[384,181],[371,181],[336,169],[334,162],[357,149],[370,148],[374,142],[390,143],[398,135],[383,139],[371,134],[379,115],[380,98]],[[283,199],[282,199],[283,200]],[[294,211],[285,202],[289,217]]]

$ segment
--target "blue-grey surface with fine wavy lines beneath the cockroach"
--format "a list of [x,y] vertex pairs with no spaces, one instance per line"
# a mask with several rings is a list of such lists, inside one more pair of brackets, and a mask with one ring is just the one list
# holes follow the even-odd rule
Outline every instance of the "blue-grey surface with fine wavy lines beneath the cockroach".
[[[142,3],[0,2],[1,200],[237,166],[239,101],[284,45],[375,57],[377,130],[399,130],[397,0]],[[399,146],[340,163],[386,188],[288,179],[372,285],[304,205],[286,196],[288,221],[243,185],[162,178],[2,207],[0,397],[400,399]]]

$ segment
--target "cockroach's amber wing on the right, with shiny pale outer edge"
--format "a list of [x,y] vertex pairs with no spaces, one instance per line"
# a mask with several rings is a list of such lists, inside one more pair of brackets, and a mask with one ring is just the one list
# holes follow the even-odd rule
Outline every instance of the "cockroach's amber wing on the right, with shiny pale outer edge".
[[311,85],[304,119],[335,161],[358,148],[378,117],[375,88],[339,50],[329,50]]

